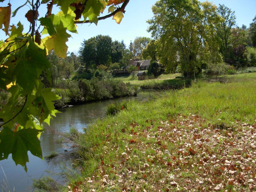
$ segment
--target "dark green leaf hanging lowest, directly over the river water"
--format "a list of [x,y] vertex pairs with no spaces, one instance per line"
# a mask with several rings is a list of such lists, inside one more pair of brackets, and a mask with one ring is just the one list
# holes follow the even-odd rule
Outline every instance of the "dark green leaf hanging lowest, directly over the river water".
[[17,132],[8,127],[0,132],[0,160],[7,159],[12,154],[16,165],[20,164],[27,171],[26,163],[28,160],[28,151],[33,155],[43,159],[40,141],[37,137],[43,130],[21,129]]

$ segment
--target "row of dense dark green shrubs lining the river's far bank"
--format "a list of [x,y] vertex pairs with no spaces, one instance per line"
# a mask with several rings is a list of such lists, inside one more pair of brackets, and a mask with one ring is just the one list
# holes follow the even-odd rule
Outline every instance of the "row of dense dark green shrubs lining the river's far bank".
[[56,108],[85,102],[100,101],[111,98],[132,96],[137,94],[137,86],[117,79],[91,80],[80,79],[59,85],[54,91],[61,99],[55,101]]

